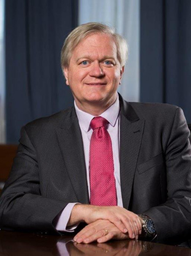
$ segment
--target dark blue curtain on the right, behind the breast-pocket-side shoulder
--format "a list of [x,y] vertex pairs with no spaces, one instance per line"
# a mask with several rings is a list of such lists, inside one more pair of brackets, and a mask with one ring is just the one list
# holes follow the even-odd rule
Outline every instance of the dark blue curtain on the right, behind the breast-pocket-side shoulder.
[[191,1],[140,3],[141,101],[180,106],[191,123]]

